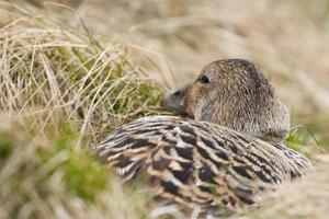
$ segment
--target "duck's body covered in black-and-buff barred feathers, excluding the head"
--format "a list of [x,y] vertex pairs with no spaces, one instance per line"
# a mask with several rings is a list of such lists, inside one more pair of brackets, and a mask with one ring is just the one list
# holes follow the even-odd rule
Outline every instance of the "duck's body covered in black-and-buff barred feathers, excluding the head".
[[160,196],[192,208],[252,205],[260,191],[314,171],[283,145],[175,116],[134,120],[94,150],[125,181],[144,169]]

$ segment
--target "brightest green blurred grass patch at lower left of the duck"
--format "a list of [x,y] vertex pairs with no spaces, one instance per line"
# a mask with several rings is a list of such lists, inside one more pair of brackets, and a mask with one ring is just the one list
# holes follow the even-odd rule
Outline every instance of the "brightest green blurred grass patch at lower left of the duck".
[[53,166],[44,178],[52,178],[53,174],[63,172],[63,181],[68,192],[93,201],[110,183],[109,170],[97,162],[89,150],[77,152],[72,145],[77,140],[77,132],[69,124],[63,123],[60,126],[59,137],[55,139],[54,146],[37,147],[36,159],[39,159],[41,163],[48,163],[58,154],[65,154],[67,159]]

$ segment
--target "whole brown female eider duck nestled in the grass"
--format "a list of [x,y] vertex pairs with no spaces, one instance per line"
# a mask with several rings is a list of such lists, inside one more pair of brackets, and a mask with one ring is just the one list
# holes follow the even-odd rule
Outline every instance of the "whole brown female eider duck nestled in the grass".
[[287,108],[247,60],[207,65],[163,103],[190,118],[139,118],[95,147],[126,181],[145,170],[161,197],[191,208],[234,208],[314,170],[282,143],[290,129]]

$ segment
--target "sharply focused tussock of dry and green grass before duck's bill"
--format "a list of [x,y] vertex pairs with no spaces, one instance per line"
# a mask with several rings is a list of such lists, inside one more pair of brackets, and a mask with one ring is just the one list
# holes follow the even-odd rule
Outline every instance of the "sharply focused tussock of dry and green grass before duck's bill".
[[157,110],[161,90],[126,58],[125,45],[102,46],[12,4],[1,13],[10,18],[0,30],[0,111],[9,116],[55,130],[63,116],[81,127],[79,147]]

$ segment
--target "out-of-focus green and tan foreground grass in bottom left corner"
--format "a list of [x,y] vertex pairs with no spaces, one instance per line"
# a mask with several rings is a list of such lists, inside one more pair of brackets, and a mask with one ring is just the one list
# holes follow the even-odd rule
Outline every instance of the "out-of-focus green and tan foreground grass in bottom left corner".
[[[124,188],[89,150],[77,152],[79,132],[63,122],[60,137],[29,134],[22,123],[0,127],[1,218],[127,218],[147,214],[150,195]],[[133,215],[132,215],[133,214]]]

